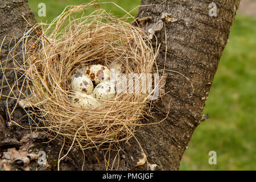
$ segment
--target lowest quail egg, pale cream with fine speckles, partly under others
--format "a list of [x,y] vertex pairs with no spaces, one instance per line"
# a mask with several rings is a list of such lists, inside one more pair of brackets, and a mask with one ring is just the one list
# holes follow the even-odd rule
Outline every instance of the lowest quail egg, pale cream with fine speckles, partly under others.
[[80,92],[76,92],[75,96],[72,97],[72,104],[85,109],[95,109],[101,105],[92,95]]

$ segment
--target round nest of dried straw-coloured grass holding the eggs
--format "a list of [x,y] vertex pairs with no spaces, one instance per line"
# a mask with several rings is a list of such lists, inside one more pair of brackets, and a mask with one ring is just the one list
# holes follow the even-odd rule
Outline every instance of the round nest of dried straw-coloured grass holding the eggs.
[[[68,6],[51,24],[39,23],[27,31],[23,44],[23,96],[36,127],[65,138],[82,149],[133,137],[135,126],[148,114],[148,93],[115,94],[101,106],[85,109],[71,104],[71,76],[81,67],[121,63],[129,73],[155,73],[156,50],[143,30],[93,4]],[[76,18],[75,15],[81,15]],[[39,27],[40,30],[39,31]],[[36,116],[36,119],[35,119]]]

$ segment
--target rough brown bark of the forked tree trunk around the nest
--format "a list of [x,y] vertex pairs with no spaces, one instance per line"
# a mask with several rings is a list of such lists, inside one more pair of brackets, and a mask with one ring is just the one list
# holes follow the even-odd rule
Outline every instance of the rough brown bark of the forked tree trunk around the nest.
[[[27,1],[1,0],[0,2],[1,42],[5,35],[15,35],[15,38],[19,39],[27,26],[22,15],[29,22],[35,23],[34,15],[28,8]],[[193,131],[201,121],[205,120],[205,116],[202,115],[205,100],[208,98],[222,51],[228,42],[230,28],[240,0],[214,1],[217,5],[216,17],[210,17],[208,14],[210,10],[208,6],[211,2],[207,0],[142,0],[141,2],[142,5],[152,5],[142,6],[139,9],[137,22],[149,35],[154,33],[158,44],[161,43],[158,57],[159,69],[163,69],[165,65],[166,70],[176,71],[187,76],[195,89],[193,92],[191,83],[184,76],[165,71],[167,80],[164,90],[168,93],[154,103],[154,118],[148,118],[143,122],[156,122],[166,117],[168,104],[172,99],[170,113],[165,121],[158,125],[143,126],[136,133],[148,162],[157,164],[155,169],[158,170],[179,169],[181,157]],[[156,38],[152,36],[154,43]],[[1,63],[8,53],[9,42],[10,38],[7,36],[1,51]],[[0,78],[2,80],[2,73]],[[11,71],[7,74],[7,78],[10,82],[13,80]],[[4,93],[9,92],[6,83],[3,84],[2,89]],[[12,105],[13,103],[10,103],[10,107]],[[0,109],[0,159],[7,148],[15,147],[17,150],[25,148],[28,153],[43,150],[47,152],[49,166],[40,166],[36,162],[31,162],[26,169],[56,169],[56,159],[61,143],[58,140],[51,140],[43,133],[31,134],[30,130],[9,126],[5,98],[3,97],[1,97]],[[17,122],[28,125],[26,119],[19,119],[22,110],[18,109],[15,113]],[[117,169],[117,161],[119,161],[118,169],[120,170],[147,169],[146,164],[135,167],[139,158],[142,158],[142,151],[135,139],[131,139],[129,143],[130,146],[119,152],[112,169]],[[64,147],[63,154],[67,149]],[[106,169],[104,152],[94,149],[85,151],[84,169]],[[110,155],[111,164],[116,154],[116,152],[112,152]],[[80,170],[83,159],[82,152],[73,149],[60,163],[60,169]],[[5,169],[7,168],[5,167]],[[17,166],[13,168],[17,168]],[[22,167],[19,166],[19,168]]]

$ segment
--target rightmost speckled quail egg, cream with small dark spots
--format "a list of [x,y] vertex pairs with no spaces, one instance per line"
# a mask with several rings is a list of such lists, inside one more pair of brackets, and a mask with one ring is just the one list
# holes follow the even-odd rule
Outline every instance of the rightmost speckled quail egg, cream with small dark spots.
[[103,81],[93,90],[93,97],[100,100],[109,100],[115,95],[115,84],[111,81]]

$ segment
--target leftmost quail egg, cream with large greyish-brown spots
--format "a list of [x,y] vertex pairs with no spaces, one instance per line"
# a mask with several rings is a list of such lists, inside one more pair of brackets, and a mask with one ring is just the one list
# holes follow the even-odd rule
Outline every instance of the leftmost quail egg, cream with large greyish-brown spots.
[[87,75],[78,72],[71,78],[71,89],[77,92],[91,94],[93,92],[93,82]]

